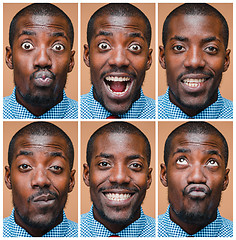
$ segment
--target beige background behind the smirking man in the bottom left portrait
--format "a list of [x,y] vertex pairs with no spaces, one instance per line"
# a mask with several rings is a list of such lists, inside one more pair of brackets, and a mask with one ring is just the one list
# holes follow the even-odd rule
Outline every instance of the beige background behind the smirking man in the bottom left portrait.
[[[7,163],[8,146],[13,135],[20,130],[23,126],[30,122],[4,122],[3,123],[3,178],[5,176],[5,166]],[[52,122],[60,127],[71,139],[74,150],[75,159],[73,168],[76,169],[75,174],[75,187],[69,193],[68,201],[66,204],[65,212],[68,219],[78,222],[78,123],[77,122]],[[12,195],[3,180],[3,217],[8,217],[12,211]]]

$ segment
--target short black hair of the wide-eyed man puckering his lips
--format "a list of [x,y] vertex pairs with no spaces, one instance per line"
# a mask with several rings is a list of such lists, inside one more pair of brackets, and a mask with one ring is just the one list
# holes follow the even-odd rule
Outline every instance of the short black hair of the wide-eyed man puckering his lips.
[[71,49],[74,43],[74,28],[70,18],[63,12],[59,7],[51,3],[33,3],[25,8],[22,8],[12,19],[10,28],[9,28],[9,44],[12,49],[13,42],[16,34],[16,25],[20,17],[26,15],[35,15],[35,16],[62,16],[66,19],[69,25],[68,36],[70,38]]

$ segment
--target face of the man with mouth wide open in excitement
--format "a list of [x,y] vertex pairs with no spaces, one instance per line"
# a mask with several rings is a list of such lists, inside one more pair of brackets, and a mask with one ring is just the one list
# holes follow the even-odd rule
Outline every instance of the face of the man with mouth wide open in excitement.
[[98,17],[84,61],[90,67],[94,98],[113,114],[129,110],[140,96],[145,72],[152,63],[152,50],[140,17]]

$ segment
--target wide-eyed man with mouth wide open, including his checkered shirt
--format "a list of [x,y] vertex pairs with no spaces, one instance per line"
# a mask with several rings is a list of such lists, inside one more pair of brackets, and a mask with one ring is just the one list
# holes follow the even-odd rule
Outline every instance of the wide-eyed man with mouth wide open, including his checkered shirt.
[[142,91],[150,42],[150,22],[131,4],[107,4],[91,16],[83,58],[92,88],[81,96],[82,119],[155,118],[155,101]]

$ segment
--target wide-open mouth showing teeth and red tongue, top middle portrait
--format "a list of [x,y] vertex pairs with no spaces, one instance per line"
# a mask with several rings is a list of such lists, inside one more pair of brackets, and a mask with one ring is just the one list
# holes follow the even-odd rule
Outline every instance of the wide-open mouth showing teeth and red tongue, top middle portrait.
[[110,92],[121,96],[128,92],[133,81],[130,77],[107,76],[104,82]]

